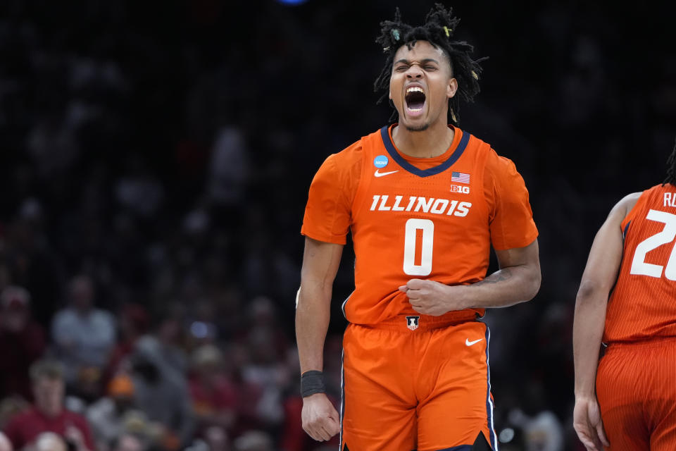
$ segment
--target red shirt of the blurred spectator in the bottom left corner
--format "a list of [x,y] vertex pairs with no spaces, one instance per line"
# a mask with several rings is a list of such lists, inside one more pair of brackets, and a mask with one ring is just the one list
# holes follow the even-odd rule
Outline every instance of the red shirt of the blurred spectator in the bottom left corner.
[[96,450],[92,431],[90,431],[89,424],[84,416],[65,409],[58,416],[46,416],[39,410],[32,408],[11,419],[4,432],[14,449],[20,450],[25,445],[32,443],[43,432],[54,432],[63,437],[65,430],[70,426],[77,428],[82,433],[84,444],[87,445],[89,450]]

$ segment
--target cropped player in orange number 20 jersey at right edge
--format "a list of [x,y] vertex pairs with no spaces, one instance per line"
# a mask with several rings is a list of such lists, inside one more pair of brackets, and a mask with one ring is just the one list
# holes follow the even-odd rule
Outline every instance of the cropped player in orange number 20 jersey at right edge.
[[611,210],[577,292],[573,426],[589,451],[676,450],[676,147],[667,164]]

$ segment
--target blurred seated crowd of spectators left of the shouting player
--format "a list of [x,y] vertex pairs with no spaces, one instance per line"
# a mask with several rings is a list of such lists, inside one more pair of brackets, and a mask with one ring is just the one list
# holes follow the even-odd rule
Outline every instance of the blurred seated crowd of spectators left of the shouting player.
[[44,432],[77,451],[318,449],[301,429],[297,354],[267,297],[223,324],[204,302],[196,316],[179,304],[153,318],[140,304],[99,309],[89,276],[67,290],[51,333],[27,290],[0,295],[0,428],[15,449],[61,449],[41,447]]

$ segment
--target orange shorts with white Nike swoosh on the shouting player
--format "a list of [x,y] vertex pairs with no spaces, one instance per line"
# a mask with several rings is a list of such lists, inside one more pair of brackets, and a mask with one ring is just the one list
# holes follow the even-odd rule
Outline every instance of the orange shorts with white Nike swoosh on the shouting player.
[[422,315],[350,324],[340,449],[461,451],[485,438],[495,450],[488,342],[479,321]]

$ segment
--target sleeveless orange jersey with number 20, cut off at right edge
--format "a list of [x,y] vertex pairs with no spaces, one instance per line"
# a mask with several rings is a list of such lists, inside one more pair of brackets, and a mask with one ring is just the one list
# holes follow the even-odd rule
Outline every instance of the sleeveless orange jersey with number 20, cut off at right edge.
[[676,187],[644,191],[622,221],[622,233],[603,341],[676,337]]

